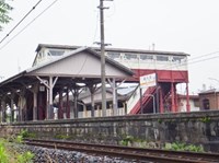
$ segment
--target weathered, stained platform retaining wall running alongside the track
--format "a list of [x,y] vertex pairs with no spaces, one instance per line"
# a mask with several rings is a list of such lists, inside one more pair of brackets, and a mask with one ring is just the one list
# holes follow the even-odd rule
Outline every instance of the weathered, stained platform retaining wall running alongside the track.
[[132,142],[146,141],[158,148],[165,142],[178,141],[201,144],[206,151],[219,152],[218,110],[25,121],[1,125],[0,135],[14,135],[21,129],[44,139],[118,144],[132,138]]

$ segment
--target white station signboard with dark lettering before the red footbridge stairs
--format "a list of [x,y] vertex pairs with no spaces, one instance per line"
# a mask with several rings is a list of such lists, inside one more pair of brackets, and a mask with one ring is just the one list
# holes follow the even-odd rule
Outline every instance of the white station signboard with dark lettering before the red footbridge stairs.
[[140,77],[140,88],[149,88],[157,85],[157,75],[155,73],[147,74]]

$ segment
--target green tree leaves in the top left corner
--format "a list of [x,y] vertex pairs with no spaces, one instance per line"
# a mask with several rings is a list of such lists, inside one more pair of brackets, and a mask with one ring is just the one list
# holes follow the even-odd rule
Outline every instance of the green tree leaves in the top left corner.
[[12,19],[9,16],[9,12],[13,8],[5,2],[5,0],[0,0],[0,31],[2,31],[2,24],[9,23]]

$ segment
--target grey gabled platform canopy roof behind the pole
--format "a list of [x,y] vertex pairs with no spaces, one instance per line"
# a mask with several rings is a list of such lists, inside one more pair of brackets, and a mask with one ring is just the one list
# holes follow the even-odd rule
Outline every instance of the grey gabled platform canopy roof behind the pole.
[[[106,78],[126,79],[134,75],[127,67],[105,58]],[[58,77],[57,84],[101,82],[101,55],[88,47],[72,50],[60,58],[24,70],[0,83],[2,92],[38,82],[41,78]]]

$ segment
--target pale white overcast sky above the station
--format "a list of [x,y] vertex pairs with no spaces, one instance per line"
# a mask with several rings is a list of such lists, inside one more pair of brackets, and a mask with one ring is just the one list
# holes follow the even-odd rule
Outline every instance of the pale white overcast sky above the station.
[[[4,25],[0,39],[37,2],[12,1],[13,21]],[[0,75],[9,78],[31,68],[38,44],[93,46],[100,42],[99,3],[43,0],[0,44]],[[154,44],[155,50],[189,54],[191,94],[203,84],[219,89],[219,0],[114,0],[104,4],[110,7],[105,10],[105,43],[134,49],[150,49]]]

